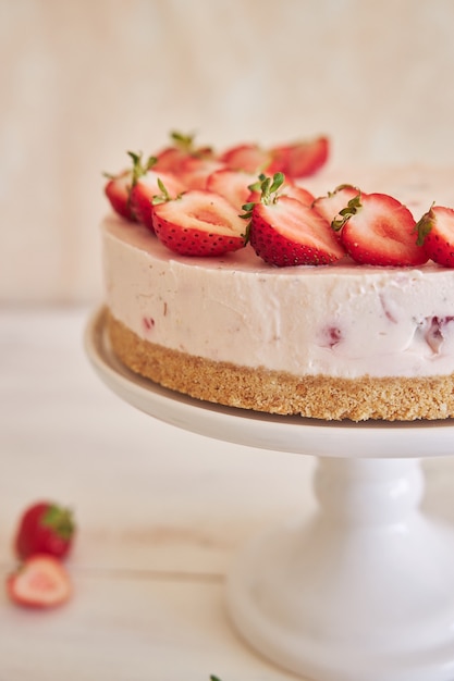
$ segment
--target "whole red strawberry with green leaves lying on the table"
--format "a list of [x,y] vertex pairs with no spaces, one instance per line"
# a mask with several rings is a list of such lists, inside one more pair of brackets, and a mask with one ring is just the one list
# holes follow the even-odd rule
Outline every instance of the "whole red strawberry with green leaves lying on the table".
[[33,504],[23,513],[14,540],[19,558],[49,554],[64,558],[72,546],[75,524],[72,512],[50,502]]

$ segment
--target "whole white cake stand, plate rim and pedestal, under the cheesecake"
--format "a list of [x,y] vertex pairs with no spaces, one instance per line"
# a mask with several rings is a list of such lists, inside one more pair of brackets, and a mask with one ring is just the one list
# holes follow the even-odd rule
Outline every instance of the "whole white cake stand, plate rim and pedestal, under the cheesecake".
[[228,580],[231,618],[253,647],[315,681],[454,680],[454,529],[419,505],[419,460],[454,454],[450,421],[334,424],[222,408],[130,372],[102,310],[85,342],[102,381],[148,414],[319,457],[316,515],[257,536]]

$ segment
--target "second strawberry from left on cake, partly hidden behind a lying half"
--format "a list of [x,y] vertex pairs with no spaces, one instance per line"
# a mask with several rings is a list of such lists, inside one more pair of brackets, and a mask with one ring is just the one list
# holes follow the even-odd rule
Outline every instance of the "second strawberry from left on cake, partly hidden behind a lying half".
[[151,169],[142,175],[131,189],[130,203],[136,219],[145,224],[151,232],[152,226],[152,201],[162,193],[165,186],[169,197],[175,198],[186,190],[186,185],[171,173],[159,173]]

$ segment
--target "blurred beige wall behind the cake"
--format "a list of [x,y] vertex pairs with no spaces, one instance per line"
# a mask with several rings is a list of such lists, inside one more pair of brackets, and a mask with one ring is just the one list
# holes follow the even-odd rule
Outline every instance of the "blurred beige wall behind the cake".
[[0,301],[101,296],[102,171],[170,129],[454,164],[452,0],[0,0]]

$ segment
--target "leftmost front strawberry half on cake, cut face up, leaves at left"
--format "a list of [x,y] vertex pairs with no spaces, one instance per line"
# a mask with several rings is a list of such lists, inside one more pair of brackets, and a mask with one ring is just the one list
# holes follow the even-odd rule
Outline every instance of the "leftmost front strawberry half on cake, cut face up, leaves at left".
[[191,189],[154,209],[158,238],[182,256],[221,256],[246,243],[235,208],[220,194]]

